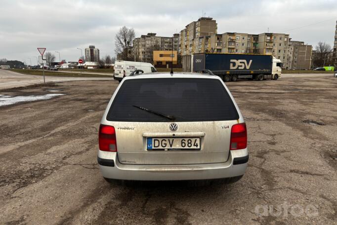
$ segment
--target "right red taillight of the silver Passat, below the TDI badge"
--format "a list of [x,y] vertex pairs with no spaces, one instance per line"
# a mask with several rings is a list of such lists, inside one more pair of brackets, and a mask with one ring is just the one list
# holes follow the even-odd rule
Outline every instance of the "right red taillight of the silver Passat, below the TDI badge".
[[247,147],[246,124],[235,124],[232,126],[230,150],[244,149]]

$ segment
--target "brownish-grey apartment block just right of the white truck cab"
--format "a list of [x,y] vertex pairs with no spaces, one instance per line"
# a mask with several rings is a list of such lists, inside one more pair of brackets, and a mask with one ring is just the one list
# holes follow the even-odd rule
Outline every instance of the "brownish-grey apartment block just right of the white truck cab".
[[312,46],[304,42],[289,40],[286,69],[310,70],[312,61]]

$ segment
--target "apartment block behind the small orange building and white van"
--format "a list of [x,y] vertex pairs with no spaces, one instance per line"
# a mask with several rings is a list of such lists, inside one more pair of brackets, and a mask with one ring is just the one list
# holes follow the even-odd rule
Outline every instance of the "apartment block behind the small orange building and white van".
[[133,40],[133,53],[135,61],[153,63],[154,50],[178,50],[179,34],[173,37],[156,36],[156,33],[141,35]]

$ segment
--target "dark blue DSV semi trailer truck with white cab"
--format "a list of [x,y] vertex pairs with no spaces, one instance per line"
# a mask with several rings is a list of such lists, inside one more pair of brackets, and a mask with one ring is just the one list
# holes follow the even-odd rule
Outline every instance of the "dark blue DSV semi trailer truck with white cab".
[[281,77],[281,60],[272,55],[198,53],[192,55],[191,60],[191,71],[211,70],[225,82],[238,79],[277,80]]

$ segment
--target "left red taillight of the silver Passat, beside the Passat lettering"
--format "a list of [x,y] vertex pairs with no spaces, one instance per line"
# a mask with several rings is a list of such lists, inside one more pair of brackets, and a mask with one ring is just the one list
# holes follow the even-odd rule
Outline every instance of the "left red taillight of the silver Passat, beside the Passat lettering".
[[117,151],[115,128],[107,125],[99,126],[98,145],[101,151]]

